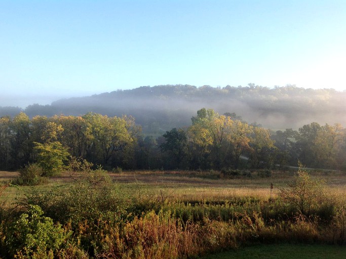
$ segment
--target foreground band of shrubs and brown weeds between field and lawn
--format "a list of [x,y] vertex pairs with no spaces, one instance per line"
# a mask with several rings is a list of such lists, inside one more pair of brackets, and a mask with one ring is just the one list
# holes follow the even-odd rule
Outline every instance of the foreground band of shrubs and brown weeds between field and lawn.
[[15,213],[0,214],[2,257],[190,258],[253,243],[346,244],[344,203],[302,169],[276,200],[175,201],[130,193],[91,167],[73,160],[74,184],[33,188]]

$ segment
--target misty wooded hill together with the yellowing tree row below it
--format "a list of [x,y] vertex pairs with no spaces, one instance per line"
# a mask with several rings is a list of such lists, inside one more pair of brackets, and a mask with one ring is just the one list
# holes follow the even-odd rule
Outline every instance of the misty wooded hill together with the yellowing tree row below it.
[[293,85],[160,85],[2,107],[0,169],[39,163],[51,174],[67,153],[108,169],[284,168],[298,160],[344,169],[345,95]]

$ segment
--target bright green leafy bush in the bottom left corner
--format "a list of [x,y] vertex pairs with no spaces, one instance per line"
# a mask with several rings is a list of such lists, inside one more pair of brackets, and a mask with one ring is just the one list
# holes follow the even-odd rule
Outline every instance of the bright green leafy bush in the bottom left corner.
[[40,206],[31,205],[17,221],[6,230],[6,245],[10,255],[31,257],[33,254],[49,254],[57,251],[70,233],[60,224],[43,216]]

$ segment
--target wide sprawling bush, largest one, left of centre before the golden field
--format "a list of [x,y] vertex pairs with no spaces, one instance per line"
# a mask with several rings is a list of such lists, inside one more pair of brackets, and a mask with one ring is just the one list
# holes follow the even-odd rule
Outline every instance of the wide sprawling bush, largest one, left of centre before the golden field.
[[128,193],[112,183],[101,168],[85,172],[82,180],[50,191],[33,190],[27,194],[29,204],[40,205],[56,221],[73,225],[81,221],[119,221],[133,206]]

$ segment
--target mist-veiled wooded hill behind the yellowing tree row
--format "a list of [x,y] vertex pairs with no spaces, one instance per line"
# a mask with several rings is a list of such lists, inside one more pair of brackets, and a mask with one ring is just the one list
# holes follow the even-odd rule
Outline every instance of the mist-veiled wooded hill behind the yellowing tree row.
[[[224,88],[158,85],[62,99],[45,106],[33,104],[23,111],[30,117],[81,115],[90,111],[109,116],[126,114],[135,117],[144,133],[162,134],[173,127],[190,125],[190,118],[202,107],[219,114],[236,113],[247,122],[257,122],[274,130],[298,128],[312,121],[346,125],[346,92],[294,85],[273,89],[254,84]],[[0,116],[13,116],[19,111],[22,110],[0,107]]]

